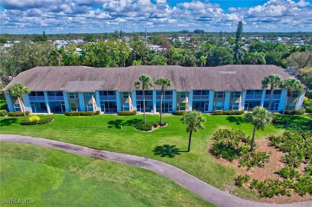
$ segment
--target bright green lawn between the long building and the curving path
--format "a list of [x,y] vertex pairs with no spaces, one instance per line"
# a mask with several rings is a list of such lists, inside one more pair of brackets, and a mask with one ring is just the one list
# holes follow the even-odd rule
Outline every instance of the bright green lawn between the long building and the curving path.
[[[212,116],[206,118],[205,129],[193,133],[191,152],[186,151],[188,133],[186,125],[180,121],[180,116],[163,115],[163,121],[169,122],[164,128],[153,132],[141,132],[134,129],[134,124],[142,121],[143,115],[115,116],[99,115],[91,117],[67,117],[53,115],[55,121],[45,125],[22,126],[18,118],[0,118],[1,134],[20,134],[34,137],[50,138],[69,142],[90,148],[123,152],[154,158],[195,175],[201,180],[221,189],[226,185],[234,185],[234,168],[224,166],[215,161],[209,153],[211,137],[218,128],[235,128],[252,136],[253,124],[246,123],[244,116]],[[147,121],[158,121],[159,116],[147,115]],[[286,119],[289,119],[286,116]],[[292,118],[294,119],[294,118]],[[295,116],[300,119],[297,125],[304,122],[312,126],[311,115]],[[296,120],[293,120],[296,121]],[[122,129],[121,129],[122,125]],[[281,126],[270,125],[264,131],[256,131],[256,140],[266,138],[270,134],[280,134],[284,131]],[[164,153],[164,146],[175,149],[173,157]],[[241,197],[255,198],[253,193],[234,188]]]

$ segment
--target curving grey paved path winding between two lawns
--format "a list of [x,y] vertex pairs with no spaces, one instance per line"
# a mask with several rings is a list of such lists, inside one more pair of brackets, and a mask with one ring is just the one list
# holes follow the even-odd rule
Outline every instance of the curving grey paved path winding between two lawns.
[[292,204],[268,204],[241,199],[230,193],[219,190],[179,168],[146,157],[114,153],[105,150],[95,150],[60,141],[20,135],[0,135],[0,141],[34,144],[77,155],[85,155],[148,169],[174,180],[176,183],[219,207],[312,207],[312,201]]

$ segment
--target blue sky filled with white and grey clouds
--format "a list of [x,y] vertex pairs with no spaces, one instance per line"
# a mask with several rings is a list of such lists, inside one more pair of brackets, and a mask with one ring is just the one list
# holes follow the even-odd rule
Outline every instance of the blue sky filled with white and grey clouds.
[[0,0],[0,33],[312,32],[312,0]]

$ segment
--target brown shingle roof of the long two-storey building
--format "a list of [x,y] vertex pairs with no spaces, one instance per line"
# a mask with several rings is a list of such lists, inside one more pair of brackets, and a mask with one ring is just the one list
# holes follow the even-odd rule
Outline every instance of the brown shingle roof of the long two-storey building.
[[[261,80],[270,74],[282,79],[293,77],[274,65],[225,65],[218,67],[130,66],[126,68],[91,68],[84,66],[36,67],[21,72],[8,86],[23,83],[31,91],[93,92],[95,90],[135,90],[134,83],[141,74],[155,81],[169,78],[177,91],[212,89],[215,91],[244,91],[261,89]],[[6,90],[7,87],[3,90]],[[160,89],[154,86],[153,89]]]

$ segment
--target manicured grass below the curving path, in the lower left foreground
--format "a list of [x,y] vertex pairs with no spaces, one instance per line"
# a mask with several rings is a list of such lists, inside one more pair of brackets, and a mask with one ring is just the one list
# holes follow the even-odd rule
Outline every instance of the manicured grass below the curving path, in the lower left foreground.
[[38,207],[214,206],[145,169],[29,144],[0,147],[1,198]]

